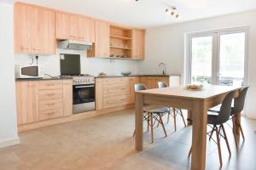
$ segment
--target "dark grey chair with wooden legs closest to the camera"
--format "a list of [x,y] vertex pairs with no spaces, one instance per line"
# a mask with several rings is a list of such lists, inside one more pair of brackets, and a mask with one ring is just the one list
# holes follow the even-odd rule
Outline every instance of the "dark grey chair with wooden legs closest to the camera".
[[[227,145],[227,148],[229,150],[229,153],[231,155],[230,151],[230,144],[224,129],[224,123],[229,121],[230,119],[230,114],[231,114],[231,104],[232,104],[232,99],[234,97],[235,92],[230,92],[229,94],[226,95],[224,98],[224,101],[222,105],[220,106],[220,110],[218,111],[218,115],[208,115],[207,118],[207,124],[212,125],[212,131],[210,133],[210,139],[212,139],[212,134],[216,132],[216,138],[217,138],[217,144],[218,144],[218,158],[220,162],[220,167],[222,167],[222,156],[221,156],[221,149],[220,149],[220,137],[223,137],[225,139],[225,143]],[[223,133],[221,133],[223,132]],[[207,133],[209,134],[209,133]],[[189,150],[189,156],[192,151],[192,147]],[[192,153],[193,154],[193,153]]]

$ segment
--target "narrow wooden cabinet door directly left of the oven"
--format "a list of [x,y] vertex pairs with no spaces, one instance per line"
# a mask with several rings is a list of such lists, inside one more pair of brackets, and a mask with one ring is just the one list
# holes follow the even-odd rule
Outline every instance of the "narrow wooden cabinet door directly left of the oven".
[[63,112],[64,116],[73,114],[73,82],[63,80]]

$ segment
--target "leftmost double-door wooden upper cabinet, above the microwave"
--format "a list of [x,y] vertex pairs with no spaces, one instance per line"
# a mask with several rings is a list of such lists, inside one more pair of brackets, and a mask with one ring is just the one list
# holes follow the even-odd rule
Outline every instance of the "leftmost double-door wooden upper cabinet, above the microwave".
[[15,52],[55,54],[55,12],[15,3]]

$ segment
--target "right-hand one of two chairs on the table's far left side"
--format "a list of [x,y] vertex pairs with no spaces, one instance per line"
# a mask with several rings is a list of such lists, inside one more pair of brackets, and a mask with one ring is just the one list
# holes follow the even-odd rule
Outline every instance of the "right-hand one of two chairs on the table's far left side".
[[[158,88],[167,88],[168,85],[166,84],[166,82],[157,82],[158,84]],[[176,126],[176,118],[177,115],[180,115],[183,119],[183,123],[184,126],[187,127],[184,116],[183,116],[183,111],[181,109],[177,109],[177,108],[169,108],[169,112],[168,112],[168,117],[167,117],[167,122],[169,122],[170,119],[170,115],[173,117],[173,122],[174,122],[174,129],[175,131],[177,130],[177,126]]]

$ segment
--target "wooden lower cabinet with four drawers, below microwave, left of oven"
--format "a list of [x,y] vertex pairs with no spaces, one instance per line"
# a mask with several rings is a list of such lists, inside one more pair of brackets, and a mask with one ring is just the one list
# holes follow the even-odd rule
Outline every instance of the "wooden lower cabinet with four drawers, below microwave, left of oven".
[[72,80],[16,82],[18,125],[73,114]]

